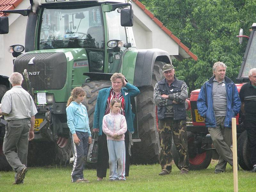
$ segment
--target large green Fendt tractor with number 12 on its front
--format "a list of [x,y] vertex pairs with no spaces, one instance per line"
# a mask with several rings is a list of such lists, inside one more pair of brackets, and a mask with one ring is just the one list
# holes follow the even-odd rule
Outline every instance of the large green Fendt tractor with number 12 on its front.
[[[140,141],[133,144],[131,161],[157,162],[160,145],[153,90],[163,78],[162,66],[171,59],[160,49],[136,49],[132,4],[125,0],[30,3],[28,10],[1,11],[28,16],[25,47],[11,46],[16,57],[14,72],[24,75],[22,87],[33,96],[38,111],[28,163],[69,162],[72,150],[66,102],[71,90],[82,86],[86,92],[84,105],[92,128],[98,92],[111,86],[110,77],[115,72],[122,73],[141,92],[131,101],[135,114],[131,142]],[[5,33],[8,17],[1,17],[0,34]]]

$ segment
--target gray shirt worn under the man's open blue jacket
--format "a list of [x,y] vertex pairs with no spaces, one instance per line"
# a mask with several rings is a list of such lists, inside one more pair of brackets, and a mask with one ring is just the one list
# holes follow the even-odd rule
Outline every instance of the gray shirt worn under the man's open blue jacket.
[[225,79],[222,82],[218,82],[213,79],[212,85],[212,102],[215,116],[226,116],[227,114],[227,90]]

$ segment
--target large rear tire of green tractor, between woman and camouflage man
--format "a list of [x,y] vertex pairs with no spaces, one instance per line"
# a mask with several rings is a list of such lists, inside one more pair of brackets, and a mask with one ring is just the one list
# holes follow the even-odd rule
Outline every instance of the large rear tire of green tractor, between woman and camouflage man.
[[151,85],[139,87],[137,95],[138,126],[141,142],[134,142],[131,162],[134,164],[153,164],[159,162],[160,142],[157,130],[156,104],[154,102],[155,84],[164,78],[162,67],[166,63],[156,61]]

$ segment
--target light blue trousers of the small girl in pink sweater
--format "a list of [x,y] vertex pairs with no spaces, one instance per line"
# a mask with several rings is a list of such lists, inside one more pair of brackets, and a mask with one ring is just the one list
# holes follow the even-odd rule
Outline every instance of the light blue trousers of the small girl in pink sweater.
[[[125,180],[125,145],[123,141],[108,140],[109,179]],[[118,163],[118,168],[117,168]]]

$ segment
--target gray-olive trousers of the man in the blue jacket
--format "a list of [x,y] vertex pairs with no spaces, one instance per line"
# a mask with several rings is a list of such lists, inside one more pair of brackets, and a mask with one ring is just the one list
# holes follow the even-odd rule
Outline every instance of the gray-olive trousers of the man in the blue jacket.
[[233,166],[233,152],[230,149],[232,142],[232,129],[224,127],[225,116],[216,117],[216,127],[209,127],[208,131],[211,135],[213,145],[220,155],[219,162],[215,166],[215,170],[226,170],[227,162]]

